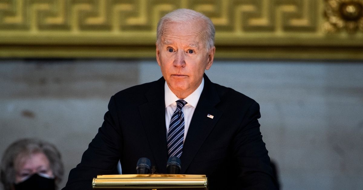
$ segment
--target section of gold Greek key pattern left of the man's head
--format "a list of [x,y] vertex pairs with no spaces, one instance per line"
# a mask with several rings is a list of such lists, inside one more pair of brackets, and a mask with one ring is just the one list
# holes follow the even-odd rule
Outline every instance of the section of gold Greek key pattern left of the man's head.
[[2,30],[21,28],[37,32],[122,31],[122,26],[126,26],[126,30],[127,26],[150,29],[147,6],[147,0],[3,1],[0,3],[0,27]]

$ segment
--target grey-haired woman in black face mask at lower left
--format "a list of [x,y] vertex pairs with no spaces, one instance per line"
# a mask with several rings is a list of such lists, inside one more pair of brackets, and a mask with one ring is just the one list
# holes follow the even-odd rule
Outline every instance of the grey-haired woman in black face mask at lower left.
[[54,190],[64,169],[57,148],[38,139],[21,139],[4,152],[0,179],[5,190]]

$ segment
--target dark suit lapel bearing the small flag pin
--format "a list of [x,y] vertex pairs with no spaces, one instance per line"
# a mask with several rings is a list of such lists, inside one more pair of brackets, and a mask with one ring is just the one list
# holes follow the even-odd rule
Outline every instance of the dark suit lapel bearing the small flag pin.
[[[180,157],[181,174],[185,173],[188,169],[201,145],[203,145],[205,139],[207,139],[209,133],[221,117],[222,112],[215,108],[215,105],[219,102],[220,99],[215,86],[204,74],[204,88],[193,113],[183,145],[183,153]],[[208,114],[213,115],[213,118],[207,117]]]

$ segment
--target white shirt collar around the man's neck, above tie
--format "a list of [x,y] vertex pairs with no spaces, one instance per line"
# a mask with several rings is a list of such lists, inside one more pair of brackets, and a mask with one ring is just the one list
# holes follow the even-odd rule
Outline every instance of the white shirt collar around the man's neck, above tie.
[[[187,105],[197,107],[200,94],[203,91],[203,87],[204,87],[204,78],[202,78],[202,82],[200,83],[198,88],[196,90],[194,90],[194,92],[191,93],[189,96],[187,96],[186,98],[183,99],[186,102],[188,102]],[[165,95],[165,107],[168,107],[170,104],[172,104],[175,101],[179,100],[179,98],[173,92],[171,92],[168,84],[166,84],[166,81],[165,81],[165,84],[164,84],[164,95]]]

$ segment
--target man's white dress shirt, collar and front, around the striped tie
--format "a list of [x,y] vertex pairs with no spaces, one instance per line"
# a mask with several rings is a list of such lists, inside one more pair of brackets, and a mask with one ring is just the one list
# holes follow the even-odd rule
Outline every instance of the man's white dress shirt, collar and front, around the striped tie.
[[[184,114],[184,141],[185,137],[187,136],[187,132],[189,129],[190,121],[192,120],[192,116],[195,110],[195,107],[198,104],[200,94],[203,91],[204,87],[204,78],[202,79],[202,82],[198,86],[198,88],[191,93],[188,97],[184,98],[183,100],[187,102],[187,104],[181,109]],[[165,124],[166,124],[166,131],[168,133],[169,131],[169,124],[171,120],[171,116],[173,115],[174,111],[176,110],[176,102],[179,100],[179,98],[171,92],[168,84],[164,85],[164,93],[165,93]],[[168,134],[167,134],[168,136]],[[183,141],[183,142],[184,142]]]

